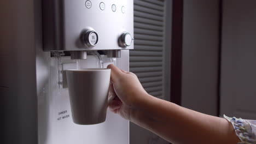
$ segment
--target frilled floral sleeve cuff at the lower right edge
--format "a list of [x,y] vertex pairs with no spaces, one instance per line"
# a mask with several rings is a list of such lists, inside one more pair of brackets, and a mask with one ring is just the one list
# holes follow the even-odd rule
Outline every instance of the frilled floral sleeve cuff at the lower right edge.
[[241,140],[238,144],[256,144],[256,121],[255,120],[246,120],[236,117],[227,117],[224,115],[224,118],[232,123],[236,135]]

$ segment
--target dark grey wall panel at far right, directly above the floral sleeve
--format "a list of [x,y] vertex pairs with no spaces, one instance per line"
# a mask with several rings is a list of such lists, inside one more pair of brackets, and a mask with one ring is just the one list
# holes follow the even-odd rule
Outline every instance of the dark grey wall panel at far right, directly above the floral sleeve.
[[220,111],[256,119],[256,1],[223,1]]

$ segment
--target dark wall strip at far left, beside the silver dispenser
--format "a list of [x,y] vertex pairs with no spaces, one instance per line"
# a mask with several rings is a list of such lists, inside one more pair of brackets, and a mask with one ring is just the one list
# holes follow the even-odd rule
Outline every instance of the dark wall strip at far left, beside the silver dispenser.
[[4,143],[37,143],[33,4],[32,0],[0,1]]

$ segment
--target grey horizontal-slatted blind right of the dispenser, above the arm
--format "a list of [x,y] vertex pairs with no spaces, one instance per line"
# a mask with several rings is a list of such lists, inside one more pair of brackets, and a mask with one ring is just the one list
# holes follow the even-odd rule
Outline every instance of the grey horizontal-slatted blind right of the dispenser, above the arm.
[[130,71],[145,90],[164,99],[164,0],[134,0],[135,47],[130,51]]

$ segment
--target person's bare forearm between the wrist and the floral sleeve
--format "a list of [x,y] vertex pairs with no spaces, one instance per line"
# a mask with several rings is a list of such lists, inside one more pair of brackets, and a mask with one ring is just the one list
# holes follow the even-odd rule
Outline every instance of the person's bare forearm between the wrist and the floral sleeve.
[[232,125],[213,117],[152,96],[138,101],[132,122],[172,143],[234,143],[238,142]]

